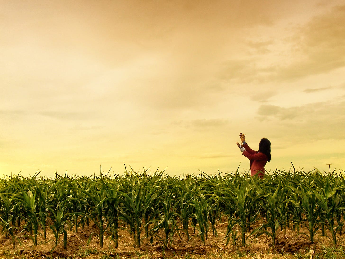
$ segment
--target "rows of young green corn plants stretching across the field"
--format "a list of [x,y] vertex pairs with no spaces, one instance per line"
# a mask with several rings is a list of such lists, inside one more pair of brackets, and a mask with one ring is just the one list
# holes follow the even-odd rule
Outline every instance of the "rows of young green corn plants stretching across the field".
[[342,173],[290,171],[264,179],[238,171],[172,177],[127,168],[122,175],[101,171],[92,177],[6,176],[0,179],[1,233],[13,247],[23,233],[37,246],[38,236],[46,240],[51,229],[55,247],[63,242],[66,248],[68,230],[93,222],[101,247],[105,237],[117,247],[119,229],[130,233],[136,248],[143,240],[169,247],[182,233],[205,244],[217,236],[216,224],[227,222],[228,246],[245,246],[260,235],[271,237],[274,246],[277,229],[303,234],[311,243],[316,233],[327,234],[336,244],[345,222]]

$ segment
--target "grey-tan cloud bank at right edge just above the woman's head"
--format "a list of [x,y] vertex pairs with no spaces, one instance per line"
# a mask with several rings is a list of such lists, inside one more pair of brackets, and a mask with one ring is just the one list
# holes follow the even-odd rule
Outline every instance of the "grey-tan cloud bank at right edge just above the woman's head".
[[311,142],[345,139],[345,101],[319,102],[290,108],[261,105],[257,119],[280,140]]

